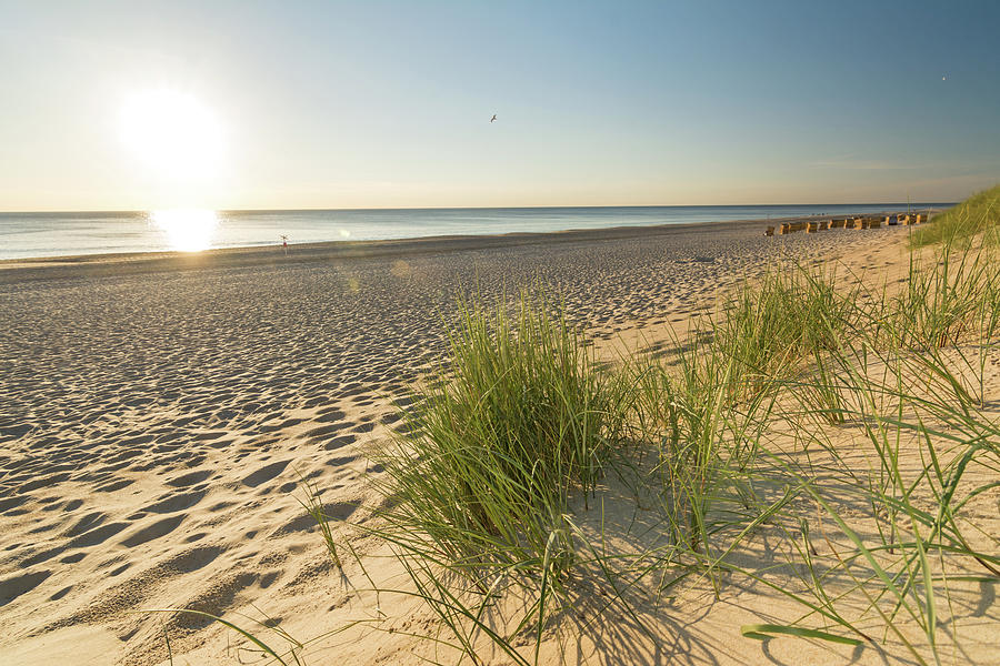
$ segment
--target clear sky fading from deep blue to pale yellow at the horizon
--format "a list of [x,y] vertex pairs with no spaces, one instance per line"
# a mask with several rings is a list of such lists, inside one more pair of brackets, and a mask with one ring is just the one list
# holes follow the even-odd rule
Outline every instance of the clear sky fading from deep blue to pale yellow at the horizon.
[[1000,182],[993,0],[0,17],[6,211],[947,202]]

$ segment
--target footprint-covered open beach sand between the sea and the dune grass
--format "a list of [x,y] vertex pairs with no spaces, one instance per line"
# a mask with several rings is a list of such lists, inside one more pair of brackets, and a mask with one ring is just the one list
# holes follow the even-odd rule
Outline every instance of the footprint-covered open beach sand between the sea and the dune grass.
[[[407,383],[441,360],[459,295],[541,287],[613,359],[683,330],[781,256],[841,259],[859,272],[906,265],[904,228],[766,238],[764,226],[0,262],[0,663],[164,664],[164,630],[176,664],[253,660],[218,624],[144,612],[179,607],[266,633],[247,616],[267,614],[300,640],[319,637],[309,664],[433,656],[409,635],[434,630],[426,609],[363,592],[368,575],[399,575],[383,544],[354,533],[369,571],[352,559],[342,575],[331,567],[299,503],[301,480],[323,491],[332,517],[371,519],[379,468],[367,452],[390,436]],[[852,657],[740,637],[747,622],[801,614],[773,592],[710,596],[661,609],[659,646],[622,619],[620,635],[607,625],[573,658]],[[978,617],[996,647],[990,613]],[[556,663],[550,643],[543,660]]]

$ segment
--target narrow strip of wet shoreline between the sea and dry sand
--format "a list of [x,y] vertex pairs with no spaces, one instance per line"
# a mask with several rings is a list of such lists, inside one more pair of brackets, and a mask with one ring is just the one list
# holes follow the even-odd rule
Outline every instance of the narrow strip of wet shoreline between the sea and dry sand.
[[[928,211],[932,209],[928,209]],[[923,212],[923,209],[916,212]],[[748,229],[762,233],[767,226],[829,216],[796,215],[772,218],[770,220],[739,219],[648,226],[618,225],[600,229],[568,229],[544,232],[454,234],[374,241],[291,243],[288,246],[289,252],[287,255],[280,244],[268,244],[212,248],[198,252],[150,251],[3,259],[0,260],[0,284],[34,280],[232,269],[268,264],[301,264],[336,260],[391,259],[532,244],[600,242],[670,235],[704,235]]]

